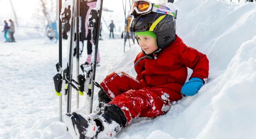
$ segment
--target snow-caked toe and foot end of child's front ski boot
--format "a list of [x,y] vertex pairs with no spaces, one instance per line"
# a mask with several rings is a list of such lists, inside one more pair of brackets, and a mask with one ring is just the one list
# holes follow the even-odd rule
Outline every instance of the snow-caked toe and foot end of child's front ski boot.
[[94,120],[77,112],[67,113],[64,122],[74,139],[90,139],[99,132]]

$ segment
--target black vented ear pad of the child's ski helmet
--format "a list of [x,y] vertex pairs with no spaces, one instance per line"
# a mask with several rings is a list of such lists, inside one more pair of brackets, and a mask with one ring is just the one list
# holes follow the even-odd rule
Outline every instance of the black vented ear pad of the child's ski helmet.
[[173,28],[168,28],[165,31],[158,32],[155,34],[156,34],[157,47],[160,49],[164,49],[171,42],[173,42],[173,40],[176,39],[175,30]]

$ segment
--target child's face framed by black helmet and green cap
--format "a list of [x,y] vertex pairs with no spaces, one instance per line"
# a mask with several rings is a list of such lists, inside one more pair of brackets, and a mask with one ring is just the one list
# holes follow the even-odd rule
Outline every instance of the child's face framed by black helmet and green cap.
[[158,47],[155,44],[155,38],[149,36],[137,36],[139,39],[139,45],[146,54],[154,53]]

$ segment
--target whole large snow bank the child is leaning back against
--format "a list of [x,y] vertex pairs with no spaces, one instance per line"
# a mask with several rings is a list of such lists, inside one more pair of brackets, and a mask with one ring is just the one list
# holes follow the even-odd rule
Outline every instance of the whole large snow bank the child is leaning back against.
[[[164,116],[133,120],[117,138],[255,138],[256,3],[177,0],[174,4],[179,10],[177,34],[209,58],[208,83]],[[133,60],[139,51],[132,47],[110,70],[135,77]]]

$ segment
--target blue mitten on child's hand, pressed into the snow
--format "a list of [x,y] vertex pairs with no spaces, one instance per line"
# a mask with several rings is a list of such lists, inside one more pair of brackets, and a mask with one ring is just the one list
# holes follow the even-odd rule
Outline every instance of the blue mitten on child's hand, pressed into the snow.
[[200,78],[193,77],[188,82],[185,82],[181,88],[181,94],[183,96],[195,95],[199,89],[204,85],[204,81]]

